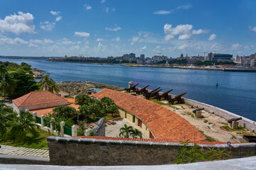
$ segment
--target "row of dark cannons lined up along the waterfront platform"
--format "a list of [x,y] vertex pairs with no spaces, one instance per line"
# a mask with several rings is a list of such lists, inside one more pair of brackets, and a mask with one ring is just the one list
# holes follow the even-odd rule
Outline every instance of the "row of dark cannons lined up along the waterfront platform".
[[160,92],[162,89],[159,88],[156,88],[154,90],[150,90],[150,89],[146,89],[149,85],[147,86],[144,86],[142,88],[139,88],[139,87],[136,87],[138,86],[139,84],[133,84],[132,81],[129,82],[129,88],[125,89],[127,92],[136,92],[136,94],[143,94],[143,96],[145,96],[146,99],[149,99],[149,98],[155,98],[159,101],[161,101],[161,98],[164,98],[164,100],[167,100],[169,101],[169,103],[171,104],[174,104],[175,101],[177,101],[177,103],[183,103],[183,100],[181,98],[181,96],[185,95],[186,93],[183,93],[183,94],[179,94],[177,96],[174,96],[174,98],[172,98],[170,95],[169,95],[169,92],[171,92],[173,89],[170,89],[169,91],[165,91],[164,93],[163,92]]

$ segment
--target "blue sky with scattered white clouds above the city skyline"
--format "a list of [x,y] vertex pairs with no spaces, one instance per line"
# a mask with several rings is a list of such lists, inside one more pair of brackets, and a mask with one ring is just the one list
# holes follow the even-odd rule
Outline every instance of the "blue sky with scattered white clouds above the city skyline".
[[255,8],[253,0],[1,0],[0,55],[250,55]]

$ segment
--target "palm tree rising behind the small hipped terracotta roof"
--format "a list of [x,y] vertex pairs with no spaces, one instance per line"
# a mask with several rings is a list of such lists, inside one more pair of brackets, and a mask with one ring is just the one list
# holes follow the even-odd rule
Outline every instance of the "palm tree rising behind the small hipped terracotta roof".
[[59,92],[59,86],[55,83],[55,81],[53,81],[52,78],[50,78],[49,74],[46,74],[44,77],[42,77],[42,79],[39,81],[39,85],[41,87],[42,90],[47,90],[53,93],[53,91],[55,92]]

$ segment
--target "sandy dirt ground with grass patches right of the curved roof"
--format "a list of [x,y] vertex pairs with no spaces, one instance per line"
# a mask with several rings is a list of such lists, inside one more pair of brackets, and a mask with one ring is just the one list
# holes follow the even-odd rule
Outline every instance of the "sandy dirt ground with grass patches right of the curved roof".
[[227,120],[220,118],[220,116],[214,115],[213,113],[208,113],[208,111],[201,111],[202,118],[195,118],[193,110],[196,108],[192,108],[185,103],[174,103],[174,105],[172,105],[169,104],[168,101],[161,101],[161,104],[186,119],[191,125],[195,126],[208,138],[208,141],[240,143],[247,142],[242,139],[243,135],[256,135],[255,132],[251,132],[242,127],[237,130],[228,128]]

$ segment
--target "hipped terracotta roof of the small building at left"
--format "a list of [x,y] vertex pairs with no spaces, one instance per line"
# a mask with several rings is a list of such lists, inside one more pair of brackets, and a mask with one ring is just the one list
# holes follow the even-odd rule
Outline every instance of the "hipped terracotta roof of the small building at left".
[[50,91],[32,91],[29,94],[16,98],[13,102],[18,107],[34,106],[44,103],[67,101],[65,98],[50,93]]

